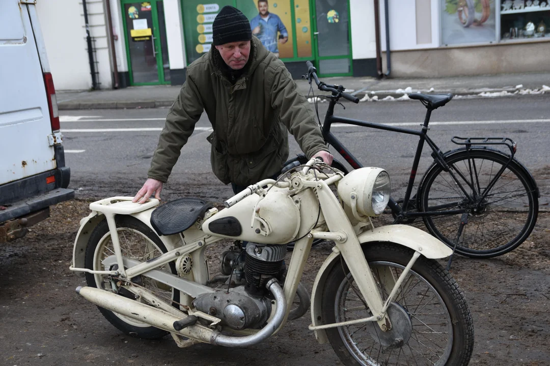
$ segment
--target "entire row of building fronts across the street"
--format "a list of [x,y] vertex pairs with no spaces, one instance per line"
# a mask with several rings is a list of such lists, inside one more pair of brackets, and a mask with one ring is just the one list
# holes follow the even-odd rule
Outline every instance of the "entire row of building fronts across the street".
[[224,5],[295,78],[550,71],[550,0],[37,0],[56,88],[182,85]]

